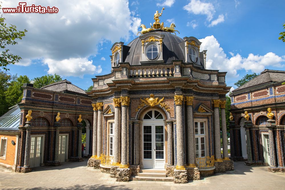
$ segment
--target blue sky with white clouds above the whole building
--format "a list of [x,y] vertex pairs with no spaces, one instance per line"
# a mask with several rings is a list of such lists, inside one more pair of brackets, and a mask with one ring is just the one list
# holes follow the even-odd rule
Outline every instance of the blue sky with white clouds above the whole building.
[[[1,0],[2,8],[19,1]],[[20,1],[23,2],[23,1]],[[82,89],[98,75],[111,71],[111,47],[137,38],[141,24],[153,23],[156,10],[165,7],[160,22],[175,23],[179,37],[194,36],[207,50],[206,69],[227,72],[226,83],[264,69],[285,70],[285,1],[265,0],[27,0],[27,6],[56,7],[56,14],[5,13],[7,24],[28,32],[11,53],[22,57],[10,65],[11,74],[30,79],[59,74]],[[283,16],[283,17],[282,17]]]

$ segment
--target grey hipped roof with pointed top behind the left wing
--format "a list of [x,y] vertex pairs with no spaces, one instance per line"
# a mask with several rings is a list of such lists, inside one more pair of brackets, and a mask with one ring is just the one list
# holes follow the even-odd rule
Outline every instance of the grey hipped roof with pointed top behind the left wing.
[[51,91],[56,91],[56,92],[73,92],[73,93],[80,93],[80,94],[87,95],[84,90],[73,85],[68,80],[58,81],[58,82],[43,86],[41,87],[41,89],[51,90]]

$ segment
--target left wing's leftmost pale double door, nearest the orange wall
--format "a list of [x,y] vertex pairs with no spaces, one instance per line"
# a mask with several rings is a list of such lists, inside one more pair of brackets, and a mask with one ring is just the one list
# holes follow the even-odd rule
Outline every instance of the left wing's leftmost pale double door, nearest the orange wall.
[[31,136],[30,139],[30,167],[40,166],[42,161],[43,136]]

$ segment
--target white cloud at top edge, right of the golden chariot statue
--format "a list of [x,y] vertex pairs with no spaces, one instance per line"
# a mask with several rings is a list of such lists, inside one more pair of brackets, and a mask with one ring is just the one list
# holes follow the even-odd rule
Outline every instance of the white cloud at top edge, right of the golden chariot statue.
[[215,7],[212,3],[204,3],[200,0],[191,0],[188,5],[183,7],[188,13],[193,13],[195,15],[207,15],[207,20],[211,21],[213,15],[215,14]]

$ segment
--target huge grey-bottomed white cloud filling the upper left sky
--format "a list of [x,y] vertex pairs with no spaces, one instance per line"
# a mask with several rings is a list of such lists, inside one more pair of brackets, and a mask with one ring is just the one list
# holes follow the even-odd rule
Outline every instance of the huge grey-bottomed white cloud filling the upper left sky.
[[[17,46],[11,46],[11,53],[23,59],[19,65],[30,65],[34,60],[52,60],[62,63],[66,60],[86,59],[95,56],[98,43],[102,40],[117,42],[128,40],[136,35],[141,19],[131,15],[127,0],[77,1],[70,0],[27,0],[32,4],[57,7],[57,14],[5,14],[6,23],[17,26],[18,30],[28,30]],[[17,7],[17,2],[2,0],[2,7]],[[111,52],[110,52],[111,54]],[[82,61],[87,63],[87,61]],[[89,62],[88,62],[89,63]],[[71,63],[72,64],[72,63]],[[77,70],[86,69],[86,73],[95,73],[94,63],[80,64]],[[53,71],[48,64],[49,73]],[[89,67],[89,68],[88,68]],[[97,67],[98,69],[98,67]],[[75,76],[73,68],[66,67],[62,75]],[[56,72],[58,73],[58,72]],[[75,74],[74,74],[75,73]],[[81,73],[78,72],[81,76]],[[78,75],[78,76],[79,76]]]

